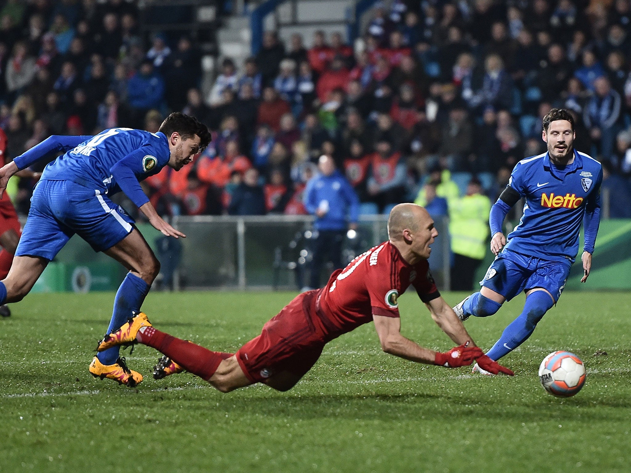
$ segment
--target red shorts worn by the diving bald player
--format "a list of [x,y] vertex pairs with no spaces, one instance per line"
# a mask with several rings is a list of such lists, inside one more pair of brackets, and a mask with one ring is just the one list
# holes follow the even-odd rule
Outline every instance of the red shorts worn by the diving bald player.
[[319,289],[298,295],[263,325],[261,335],[237,351],[237,361],[253,383],[281,371],[302,377],[315,365],[326,344],[315,315],[318,292]]

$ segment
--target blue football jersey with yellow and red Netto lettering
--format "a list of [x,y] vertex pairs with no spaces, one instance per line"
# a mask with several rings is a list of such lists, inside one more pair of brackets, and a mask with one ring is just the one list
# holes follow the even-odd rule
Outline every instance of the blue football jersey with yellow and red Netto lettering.
[[602,180],[601,164],[580,151],[574,151],[574,162],[563,171],[551,165],[548,153],[519,161],[509,185],[526,198],[526,205],[506,248],[574,262],[584,215],[599,211]]

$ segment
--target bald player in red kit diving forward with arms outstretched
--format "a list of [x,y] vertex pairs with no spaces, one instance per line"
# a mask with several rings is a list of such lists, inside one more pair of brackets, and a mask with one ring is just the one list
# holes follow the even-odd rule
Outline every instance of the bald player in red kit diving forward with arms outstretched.
[[[162,375],[187,370],[221,392],[257,382],[286,391],[311,369],[327,342],[374,321],[386,353],[448,368],[471,365],[476,359],[487,371],[513,375],[475,346],[440,296],[427,263],[430,245],[437,235],[433,220],[423,207],[399,204],[388,219],[387,242],[334,272],[323,289],[298,295],[263,326],[261,335],[235,354],[209,351],[160,332],[142,312],[117,332],[105,336],[98,351],[140,342],[165,354],[167,358],[156,366],[156,371],[167,370]],[[398,297],[410,285],[440,329],[459,346],[437,353],[401,335]]]

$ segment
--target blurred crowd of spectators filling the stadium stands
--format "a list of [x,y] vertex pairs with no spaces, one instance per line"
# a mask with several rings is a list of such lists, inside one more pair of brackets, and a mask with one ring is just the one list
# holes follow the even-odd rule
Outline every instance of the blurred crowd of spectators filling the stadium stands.
[[[162,214],[304,214],[321,155],[364,213],[416,201],[447,214],[471,192],[495,199],[517,161],[545,151],[543,115],[565,107],[576,148],[604,164],[611,216],[631,216],[628,0],[394,0],[375,6],[362,48],[264,33],[242,68],[221,59],[205,95],[194,42],[141,37],[136,3],[0,5],[10,157],[50,134],[156,131],[176,110],[208,125],[194,165],[143,183]],[[32,185],[18,185],[22,213]]]

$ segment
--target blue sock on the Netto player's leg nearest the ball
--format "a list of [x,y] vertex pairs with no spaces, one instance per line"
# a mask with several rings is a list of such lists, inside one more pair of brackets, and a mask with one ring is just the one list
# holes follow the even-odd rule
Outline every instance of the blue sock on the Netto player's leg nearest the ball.
[[523,312],[504,329],[502,337],[487,352],[489,358],[497,361],[525,342],[553,305],[554,301],[546,291],[534,291],[527,296]]

